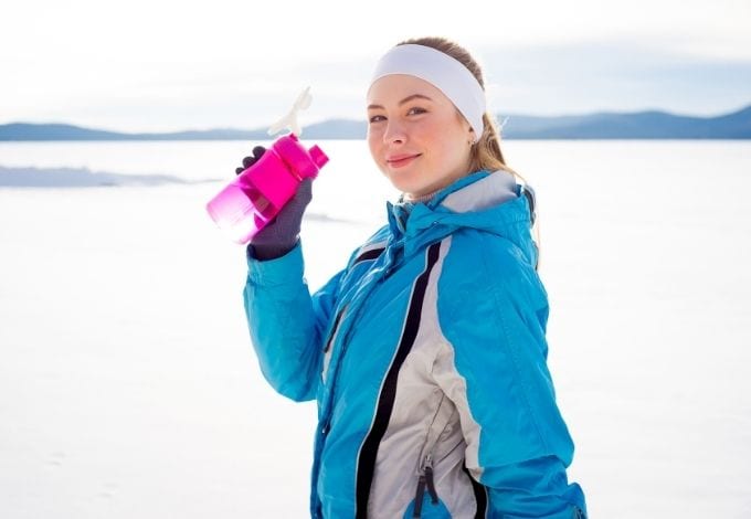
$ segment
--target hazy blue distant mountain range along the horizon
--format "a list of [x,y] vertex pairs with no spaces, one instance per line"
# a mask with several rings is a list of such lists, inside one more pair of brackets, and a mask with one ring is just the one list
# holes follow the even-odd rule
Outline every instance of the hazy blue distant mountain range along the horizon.
[[[751,105],[716,117],[690,117],[667,112],[599,113],[532,117],[499,115],[509,139],[751,139]],[[363,120],[329,119],[308,125],[305,138],[363,139]],[[2,140],[266,140],[265,129],[210,129],[169,134],[123,134],[62,124],[0,125]]]

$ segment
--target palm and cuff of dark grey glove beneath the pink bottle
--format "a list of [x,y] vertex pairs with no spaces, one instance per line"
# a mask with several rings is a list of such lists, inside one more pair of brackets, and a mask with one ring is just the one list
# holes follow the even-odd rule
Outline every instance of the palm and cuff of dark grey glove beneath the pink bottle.
[[251,240],[247,245],[247,254],[251,257],[261,261],[274,260],[295,248],[305,208],[313,199],[311,188],[313,179],[303,179],[295,195],[282,208],[276,218]]

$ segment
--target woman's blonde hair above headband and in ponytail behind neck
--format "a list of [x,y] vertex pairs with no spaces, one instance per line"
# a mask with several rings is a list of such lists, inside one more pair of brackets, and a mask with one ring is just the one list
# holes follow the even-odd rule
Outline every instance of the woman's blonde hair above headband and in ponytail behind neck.
[[[467,67],[472,75],[475,76],[479,86],[485,89],[485,78],[483,77],[483,70],[479,63],[469,54],[469,51],[464,49],[456,42],[453,42],[446,38],[441,36],[426,36],[426,38],[412,38],[410,40],[404,40],[399,42],[396,45],[425,45],[436,51],[443,52],[444,54],[453,57],[454,60],[462,63]],[[457,109],[458,113],[458,109]],[[483,114],[483,135],[479,139],[472,145],[469,150],[469,171],[498,171],[503,170],[511,173],[515,178],[527,184],[527,179],[521,174],[517,173],[509,166],[506,165],[504,159],[504,152],[500,150],[500,130],[498,129],[498,124],[490,112]],[[539,226],[539,215],[536,218],[533,224],[535,242],[538,247],[538,264],[539,264],[539,251],[540,251],[540,226]]]

